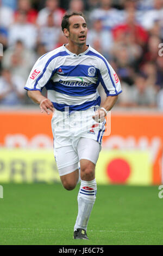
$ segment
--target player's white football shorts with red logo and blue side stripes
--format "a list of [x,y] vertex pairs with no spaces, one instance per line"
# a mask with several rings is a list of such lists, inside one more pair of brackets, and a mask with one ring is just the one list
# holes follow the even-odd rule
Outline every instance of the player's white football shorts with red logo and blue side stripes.
[[59,175],[78,169],[81,159],[96,164],[101,151],[105,121],[97,123],[92,116],[96,108],[84,111],[61,112],[55,110],[52,117],[54,156]]

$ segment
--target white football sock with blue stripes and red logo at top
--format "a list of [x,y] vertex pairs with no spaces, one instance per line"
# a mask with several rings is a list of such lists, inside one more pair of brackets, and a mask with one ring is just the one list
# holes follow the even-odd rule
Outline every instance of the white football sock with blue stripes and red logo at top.
[[92,181],[81,180],[78,193],[78,216],[76,224],[74,225],[74,230],[77,228],[87,229],[87,223],[96,199],[96,191],[96,179]]

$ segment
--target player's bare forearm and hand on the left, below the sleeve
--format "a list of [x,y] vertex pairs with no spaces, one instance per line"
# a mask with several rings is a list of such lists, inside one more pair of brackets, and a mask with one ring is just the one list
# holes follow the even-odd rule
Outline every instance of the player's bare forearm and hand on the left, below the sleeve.
[[48,115],[50,114],[50,111],[54,112],[51,100],[44,97],[40,91],[28,91],[27,94],[33,102],[40,105],[41,112],[45,111]]

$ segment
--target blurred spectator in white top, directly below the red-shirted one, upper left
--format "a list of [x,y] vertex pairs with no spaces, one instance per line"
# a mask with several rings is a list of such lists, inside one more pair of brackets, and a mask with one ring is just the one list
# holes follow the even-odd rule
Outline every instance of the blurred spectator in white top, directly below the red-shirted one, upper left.
[[23,44],[32,49],[36,46],[37,29],[32,23],[27,22],[27,14],[24,11],[18,11],[17,21],[9,28],[9,46],[21,40]]

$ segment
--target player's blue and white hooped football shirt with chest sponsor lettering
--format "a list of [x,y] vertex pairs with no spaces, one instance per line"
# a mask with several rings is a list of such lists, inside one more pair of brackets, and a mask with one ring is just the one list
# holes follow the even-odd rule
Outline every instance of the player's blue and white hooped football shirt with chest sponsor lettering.
[[106,96],[122,92],[121,84],[108,61],[91,46],[76,55],[63,45],[41,56],[29,74],[26,90],[47,89],[47,97],[59,111],[86,110],[101,103],[97,87],[101,82]]

